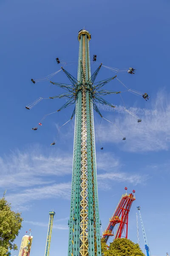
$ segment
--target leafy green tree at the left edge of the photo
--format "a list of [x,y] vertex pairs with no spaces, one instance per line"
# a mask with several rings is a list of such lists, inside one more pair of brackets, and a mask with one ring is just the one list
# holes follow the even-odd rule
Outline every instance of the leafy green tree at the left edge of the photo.
[[21,229],[21,213],[11,210],[9,204],[3,197],[0,199],[0,256],[9,255],[8,250],[17,250],[14,244],[16,236]]

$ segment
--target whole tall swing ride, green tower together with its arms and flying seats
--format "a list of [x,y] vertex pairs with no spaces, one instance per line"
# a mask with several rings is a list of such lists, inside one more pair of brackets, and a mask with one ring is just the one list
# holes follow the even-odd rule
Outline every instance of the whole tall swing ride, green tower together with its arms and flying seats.
[[[42,126],[42,123],[48,115],[62,111],[68,106],[75,106],[71,118],[62,125],[66,125],[75,116],[68,256],[101,256],[93,110],[99,114],[101,120],[105,119],[106,121],[115,125],[115,127],[119,130],[116,124],[106,119],[98,108],[99,105],[105,105],[110,108],[115,108],[114,105],[104,99],[104,96],[115,94],[120,95],[122,99],[121,94],[128,92],[142,97],[146,101],[149,99],[147,93],[130,89],[117,78],[117,75],[119,75],[119,73],[134,75],[136,70],[132,67],[119,70],[117,68],[102,65],[101,63],[99,64],[99,67],[96,69],[96,71],[91,75],[91,60],[89,51],[90,40],[91,34],[87,30],[82,29],[79,31],[79,60],[77,79],[74,78],[74,76],[72,76],[70,73],[68,73],[67,70],[65,70],[65,66],[67,65],[67,63],[59,59],[59,57],[56,58],[56,61],[57,64],[63,64],[61,69],[42,79],[31,79],[31,81],[35,85],[41,81],[50,81],[51,84],[60,87],[66,91],[65,93],[59,94],[57,96],[51,96],[50,98],[48,98],[49,100],[68,99],[68,101],[64,105],[62,105],[57,111],[48,113],[43,116],[43,118],[39,122],[37,122],[37,125],[32,128],[33,131],[37,131],[38,127]],[[97,55],[94,55],[92,62],[96,63],[96,60]],[[115,76],[96,82],[96,77],[101,67],[111,70],[115,73]],[[52,78],[60,71],[63,71],[65,73],[71,84],[64,84],[52,81]],[[113,80],[119,81],[119,83],[122,84],[126,88],[126,90],[122,92],[105,90],[105,85]],[[38,103],[40,103],[42,99],[45,98],[39,97],[34,102],[26,105],[26,109],[31,110]],[[136,119],[137,122],[140,123],[142,121],[139,116],[137,116],[135,113],[132,113],[130,110],[127,110],[125,108],[125,111],[130,114],[134,119]],[[60,128],[62,126],[60,126]],[[119,132],[121,133],[120,130]],[[52,146],[56,144],[57,137],[56,140],[51,143]],[[126,137],[123,136],[123,134],[122,140],[126,140]],[[103,147],[101,149],[103,149]],[[130,196],[125,195],[125,198],[127,198],[127,201],[131,200],[131,202],[135,200],[135,198],[131,194]],[[123,198],[123,201],[125,200],[125,198]],[[116,216],[120,217],[119,214],[117,214]],[[125,215],[123,214],[122,216]],[[113,219],[113,222],[114,221],[115,220]],[[111,226],[113,227],[113,224]],[[125,226],[126,225],[124,225],[124,227]]]

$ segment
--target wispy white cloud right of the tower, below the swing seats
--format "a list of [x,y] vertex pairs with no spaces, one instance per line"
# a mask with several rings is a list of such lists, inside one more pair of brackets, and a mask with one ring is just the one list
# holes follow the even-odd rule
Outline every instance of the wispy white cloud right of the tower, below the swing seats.
[[[108,111],[105,106],[103,110]],[[142,118],[138,123],[132,116],[118,108],[119,115],[116,115],[114,122],[125,135],[126,140],[122,141],[122,135],[110,123],[103,120],[99,129],[100,137],[107,143],[119,143],[125,151],[159,151],[170,148],[170,102],[169,96],[159,92],[151,109],[130,108],[133,113]],[[115,111],[116,113],[116,111]],[[109,116],[113,122],[113,116]],[[121,144],[122,143],[122,144]]]

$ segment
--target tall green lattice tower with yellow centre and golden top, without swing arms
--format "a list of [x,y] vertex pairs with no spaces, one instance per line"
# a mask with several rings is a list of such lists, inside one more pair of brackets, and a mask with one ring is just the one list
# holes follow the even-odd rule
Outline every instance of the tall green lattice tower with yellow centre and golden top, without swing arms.
[[101,255],[90,39],[88,31],[79,31],[68,256]]

